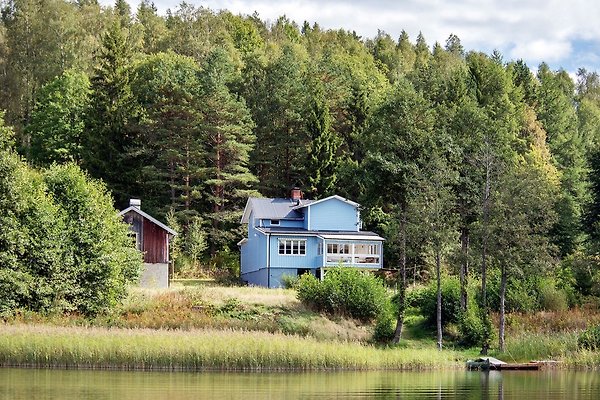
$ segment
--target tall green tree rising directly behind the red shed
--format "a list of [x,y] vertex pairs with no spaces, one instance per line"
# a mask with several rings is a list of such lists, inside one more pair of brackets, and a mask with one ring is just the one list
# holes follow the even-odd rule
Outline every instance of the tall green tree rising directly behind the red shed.
[[206,153],[202,121],[200,68],[186,56],[159,53],[141,61],[133,73],[133,93],[144,117],[132,130],[141,168],[140,193],[149,209],[173,209],[187,225],[200,211]]

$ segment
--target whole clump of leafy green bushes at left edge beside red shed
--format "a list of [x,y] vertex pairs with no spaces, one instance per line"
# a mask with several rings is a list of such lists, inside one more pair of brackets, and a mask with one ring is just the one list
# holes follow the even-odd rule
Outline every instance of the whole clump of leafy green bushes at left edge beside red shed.
[[135,280],[141,255],[105,187],[76,165],[43,174],[0,149],[0,313],[94,315]]

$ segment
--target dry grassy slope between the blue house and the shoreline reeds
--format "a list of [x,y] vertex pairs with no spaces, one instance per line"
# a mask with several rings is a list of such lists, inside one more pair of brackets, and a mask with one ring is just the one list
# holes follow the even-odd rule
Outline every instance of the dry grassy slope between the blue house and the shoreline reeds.
[[371,336],[369,328],[356,321],[329,319],[307,310],[292,290],[253,287],[132,288],[118,309],[93,320],[78,315],[24,313],[10,322],[130,329],[229,329],[342,342],[364,342]]

